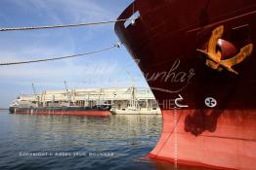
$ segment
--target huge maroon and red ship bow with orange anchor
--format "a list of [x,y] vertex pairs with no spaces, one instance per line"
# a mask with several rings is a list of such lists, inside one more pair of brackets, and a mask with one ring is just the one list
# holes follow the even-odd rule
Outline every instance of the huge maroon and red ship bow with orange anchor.
[[162,112],[152,159],[256,167],[256,1],[135,0],[115,32]]

